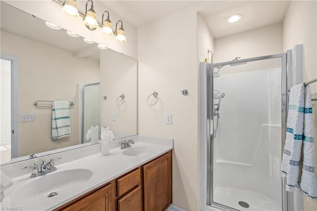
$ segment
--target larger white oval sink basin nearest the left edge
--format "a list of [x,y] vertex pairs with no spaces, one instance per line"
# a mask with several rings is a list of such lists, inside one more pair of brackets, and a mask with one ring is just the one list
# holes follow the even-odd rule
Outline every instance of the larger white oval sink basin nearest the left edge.
[[[22,186],[13,196],[15,200],[19,201],[50,199],[48,196],[50,194],[52,196],[52,193],[53,196],[55,196],[80,187],[84,182],[88,181],[92,175],[93,172],[88,169],[69,169],[49,173],[37,177],[36,180]],[[34,178],[30,178],[30,180],[32,179]]]

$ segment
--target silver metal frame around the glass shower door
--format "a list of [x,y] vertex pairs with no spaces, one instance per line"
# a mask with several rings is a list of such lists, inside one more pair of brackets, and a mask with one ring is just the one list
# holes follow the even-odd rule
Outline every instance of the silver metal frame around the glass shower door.
[[[207,205],[213,208],[217,208],[223,211],[237,211],[236,209],[226,207],[224,205],[212,202],[213,199],[213,69],[219,66],[232,65],[242,62],[251,62],[251,61],[259,61],[271,58],[281,58],[281,149],[283,151],[285,145],[285,137],[286,137],[286,113],[287,113],[287,105],[288,105],[288,92],[287,90],[291,87],[291,77],[292,77],[292,51],[287,51],[287,53],[273,54],[267,56],[259,56],[247,59],[239,59],[221,63],[208,63],[206,64],[207,70],[207,93],[203,93],[201,90],[201,95],[207,94]],[[206,92],[206,91],[205,91]],[[202,107],[201,107],[202,108]],[[205,108],[206,109],[206,108]],[[202,125],[203,126],[203,125]],[[282,152],[281,152],[282,155]],[[282,180],[282,186],[284,186],[284,181]],[[292,211],[293,210],[293,194],[285,191],[284,188],[281,187],[282,191],[282,210],[283,211]]]

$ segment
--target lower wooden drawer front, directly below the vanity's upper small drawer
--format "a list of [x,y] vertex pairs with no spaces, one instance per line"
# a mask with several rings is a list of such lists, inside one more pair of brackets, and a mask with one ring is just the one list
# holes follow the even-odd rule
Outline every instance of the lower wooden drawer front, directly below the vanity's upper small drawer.
[[118,211],[143,211],[142,189],[140,186],[118,200]]

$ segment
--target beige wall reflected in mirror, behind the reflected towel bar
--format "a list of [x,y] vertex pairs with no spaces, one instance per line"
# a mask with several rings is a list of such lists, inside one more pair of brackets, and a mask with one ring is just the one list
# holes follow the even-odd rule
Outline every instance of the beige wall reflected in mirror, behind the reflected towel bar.
[[[19,58],[19,156],[79,143],[77,84],[99,82],[99,61],[1,31],[1,53]],[[70,109],[71,137],[52,139],[52,109],[36,108],[37,100],[76,101]],[[21,122],[22,113],[35,121]]]

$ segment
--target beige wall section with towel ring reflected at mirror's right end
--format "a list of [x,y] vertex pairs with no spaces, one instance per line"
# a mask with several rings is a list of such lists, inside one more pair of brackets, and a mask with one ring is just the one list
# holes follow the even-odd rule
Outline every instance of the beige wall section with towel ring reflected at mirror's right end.
[[[100,89],[101,127],[113,132],[137,134],[137,60],[112,50],[101,51]],[[117,98],[124,94],[124,102],[116,105]],[[118,104],[122,103],[121,98]],[[117,120],[112,120],[112,113]],[[116,137],[115,137],[116,138]]]

